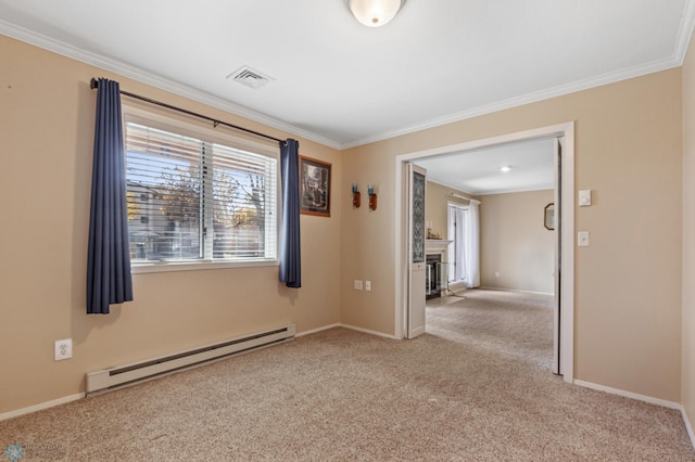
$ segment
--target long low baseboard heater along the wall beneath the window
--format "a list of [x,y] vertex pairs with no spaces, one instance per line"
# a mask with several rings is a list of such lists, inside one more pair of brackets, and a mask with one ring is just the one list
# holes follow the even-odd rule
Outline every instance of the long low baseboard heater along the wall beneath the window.
[[117,368],[87,373],[87,394],[121,388],[132,383],[170,374],[204,362],[277,345],[294,338],[294,324],[219,342]]

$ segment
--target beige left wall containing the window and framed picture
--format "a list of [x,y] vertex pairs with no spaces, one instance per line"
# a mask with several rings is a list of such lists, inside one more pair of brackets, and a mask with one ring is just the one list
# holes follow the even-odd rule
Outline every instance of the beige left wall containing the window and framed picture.
[[[0,37],[0,413],[84,390],[85,373],[295,323],[298,332],[340,321],[341,207],[302,216],[303,287],[278,268],[134,274],[132,303],[85,315],[88,210],[96,92],[92,77],[124,90],[267,132],[213,107]],[[341,158],[302,140],[301,154]],[[74,359],[54,362],[53,342],[72,337]]]

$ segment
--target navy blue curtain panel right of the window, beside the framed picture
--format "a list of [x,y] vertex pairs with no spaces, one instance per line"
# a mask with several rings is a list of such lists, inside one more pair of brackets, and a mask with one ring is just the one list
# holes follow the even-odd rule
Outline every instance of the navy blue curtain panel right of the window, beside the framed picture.
[[282,223],[280,224],[280,282],[288,287],[302,286],[300,242],[300,143],[288,139],[280,143],[282,181]]

